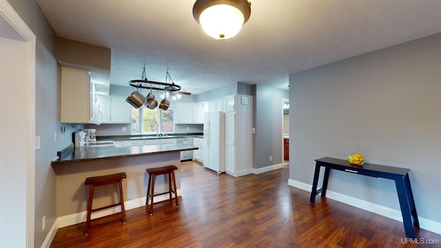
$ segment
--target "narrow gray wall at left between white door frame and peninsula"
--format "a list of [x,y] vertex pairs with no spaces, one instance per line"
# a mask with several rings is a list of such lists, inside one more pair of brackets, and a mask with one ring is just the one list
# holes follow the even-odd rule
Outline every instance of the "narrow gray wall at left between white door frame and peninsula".
[[[37,36],[35,133],[41,138],[41,149],[35,151],[35,247],[41,247],[57,218],[57,176],[50,165],[57,150],[72,142],[69,134],[76,128],[60,123],[60,68],[55,60],[55,34],[36,1],[8,0],[21,19]],[[61,127],[66,134],[61,139]],[[57,141],[53,141],[54,132]],[[14,199],[9,199],[11,203]],[[45,216],[46,227],[41,231]]]

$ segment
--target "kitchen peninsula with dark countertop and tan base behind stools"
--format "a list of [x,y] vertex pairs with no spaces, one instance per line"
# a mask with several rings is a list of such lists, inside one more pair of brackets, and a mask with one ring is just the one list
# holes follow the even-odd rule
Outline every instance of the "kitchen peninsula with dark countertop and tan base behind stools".
[[[180,143],[162,145],[139,145],[131,147],[68,147],[59,153],[59,159],[52,161],[57,174],[57,215],[59,227],[74,225],[85,221],[89,188],[84,180],[90,176],[103,176],[125,172],[123,192],[126,209],[145,205],[148,174],[145,169],[175,165],[176,187],[181,195],[181,151],[198,149]],[[118,200],[118,185],[103,185],[94,192],[94,206],[107,205]],[[158,176],[155,191],[167,191],[167,179]],[[161,199],[158,199],[161,200]],[[155,199],[156,201],[156,199]],[[92,218],[116,212],[97,212]],[[130,221],[130,220],[127,220]]]

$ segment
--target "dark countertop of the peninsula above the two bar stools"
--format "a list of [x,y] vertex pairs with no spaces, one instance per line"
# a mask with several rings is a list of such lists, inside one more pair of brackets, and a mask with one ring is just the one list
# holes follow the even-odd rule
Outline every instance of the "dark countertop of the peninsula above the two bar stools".
[[96,161],[110,158],[124,158],[130,156],[145,156],[163,154],[167,152],[181,152],[198,149],[193,145],[163,144],[163,145],[136,145],[131,147],[76,147],[67,149],[61,158],[52,161],[52,165]]

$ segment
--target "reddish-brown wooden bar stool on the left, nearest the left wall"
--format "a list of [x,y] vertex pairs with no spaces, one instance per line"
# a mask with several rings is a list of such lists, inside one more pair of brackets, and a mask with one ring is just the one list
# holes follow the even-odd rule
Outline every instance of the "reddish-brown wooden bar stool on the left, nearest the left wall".
[[[93,211],[99,211],[102,209],[107,209],[110,207],[115,207],[115,206],[121,205],[121,212],[118,212],[115,214],[110,214],[105,217],[110,217],[110,216],[115,216],[115,215],[121,214],[121,216],[123,216],[123,223],[125,224],[125,209],[124,209],[124,196],[123,196],[123,183],[122,183],[124,178],[127,178],[127,176],[125,175],[125,172],[116,173],[116,174],[112,174],[112,175],[106,175],[106,176],[94,176],[94,177],[85,178],[84,185],[90,185],[90,190],[89,190],[88,218],[85,222],[84,235],[88,235],[90,223],[93,221],[93,220],[90,220],[90,216],[92,216]],[[94,197],[94,187],[101,186],[101,185],[108,185],[108,184],[112,184],[112,183],[119,183],[119,199],[120,199],[119,203],[108,205],[105,207],[99,207],[96,209],[92,209],[92,200]],[[97,219],[94,219],[94,220],[97,220]]]

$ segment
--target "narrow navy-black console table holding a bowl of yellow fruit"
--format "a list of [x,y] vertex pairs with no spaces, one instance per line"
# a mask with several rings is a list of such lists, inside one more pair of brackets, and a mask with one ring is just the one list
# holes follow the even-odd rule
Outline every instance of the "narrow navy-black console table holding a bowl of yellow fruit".
[[[325,167],[325,175],[323,177],[322,188],[317,189],[320,167]],[[321,193],[322,197],[326,196],[329,172],[331,169],[338,169],[340,171],[353,174],[394,180],[397,187],[398,200],[400,201],[404,231],[406,231],[407,238],[415,238],[415,231],[413,230],[413,227],[420,227],[420,223],[418,223],[418,215],[416,214],[415,202],[413,200],[411,182],[409,181],[409,169],[386,165],[374,165],[371,163],[365,163],[361,166],[351,165],[349,161],[343,159],[328,157],[318,158],[316,159],[316,171],[314,172],[311,199],[309,200],[311,203],[316,201],[317,194]]]

